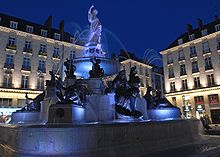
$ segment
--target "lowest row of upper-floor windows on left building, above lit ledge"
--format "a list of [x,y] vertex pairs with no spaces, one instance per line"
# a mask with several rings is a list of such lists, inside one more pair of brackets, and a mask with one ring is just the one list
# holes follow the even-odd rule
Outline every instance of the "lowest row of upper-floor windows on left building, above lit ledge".
[[[30,88],[29,81],[30,81],[29,76],[22,75],[20,88],[29,89]],[[5,74],[3,76],[2,87],[4,87],[4,88],[13,88],[14,87],[14,85],[12,84],[12,73],[5,72]],[[44,90],[44,76],[39,76],[37,78],[37,89]]]

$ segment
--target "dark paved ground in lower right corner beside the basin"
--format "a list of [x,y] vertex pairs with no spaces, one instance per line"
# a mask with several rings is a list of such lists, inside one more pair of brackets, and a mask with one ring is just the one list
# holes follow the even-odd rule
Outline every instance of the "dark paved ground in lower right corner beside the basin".
[[205,135],[205,140],[140,157],[220,157],[220,136]]

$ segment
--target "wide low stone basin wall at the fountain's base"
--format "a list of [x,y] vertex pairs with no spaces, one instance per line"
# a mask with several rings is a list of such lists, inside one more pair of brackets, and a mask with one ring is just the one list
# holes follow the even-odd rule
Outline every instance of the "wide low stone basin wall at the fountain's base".
[[0,125],[0,154],[137,157],[201,140],[199,120]]

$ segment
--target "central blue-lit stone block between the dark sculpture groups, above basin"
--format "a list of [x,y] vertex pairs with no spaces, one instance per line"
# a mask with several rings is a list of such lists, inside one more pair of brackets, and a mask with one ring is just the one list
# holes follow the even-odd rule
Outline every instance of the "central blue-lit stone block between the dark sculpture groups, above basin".
[[115,119],[114,94],[87,96],[86,121],[100,122]]

